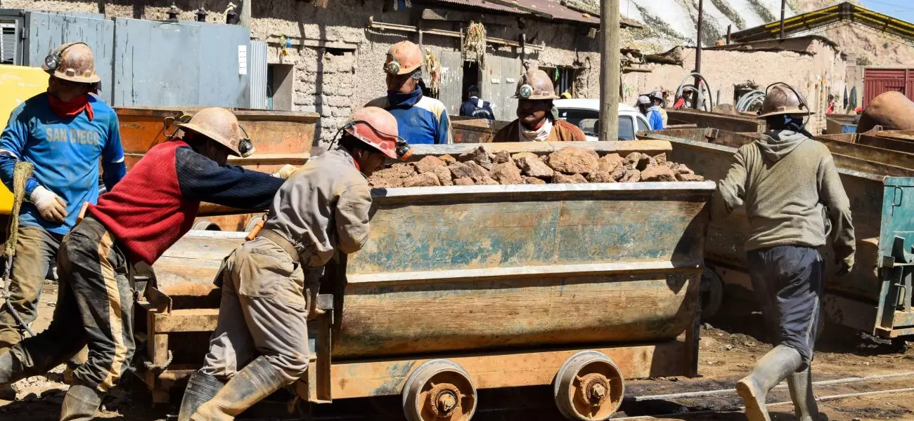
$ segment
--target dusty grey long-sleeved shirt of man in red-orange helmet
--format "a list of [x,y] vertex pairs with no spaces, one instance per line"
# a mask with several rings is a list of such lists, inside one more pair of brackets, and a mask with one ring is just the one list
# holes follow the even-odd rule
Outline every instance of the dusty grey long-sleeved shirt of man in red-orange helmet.
[[265,230],[282,235],[309,268],[323,266],[339,249],[361,250],[368,238],[371,190],[343,148],[309,159],[276,193]]

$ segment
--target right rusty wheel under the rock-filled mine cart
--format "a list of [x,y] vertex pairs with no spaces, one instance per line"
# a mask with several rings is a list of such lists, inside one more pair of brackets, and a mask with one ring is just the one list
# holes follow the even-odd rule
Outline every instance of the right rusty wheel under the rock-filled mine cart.
[[597,351],[571,355],[558,369],[553,387],[556,406],[574,421],[603,421],[622,405],[622,373],[610,357]]

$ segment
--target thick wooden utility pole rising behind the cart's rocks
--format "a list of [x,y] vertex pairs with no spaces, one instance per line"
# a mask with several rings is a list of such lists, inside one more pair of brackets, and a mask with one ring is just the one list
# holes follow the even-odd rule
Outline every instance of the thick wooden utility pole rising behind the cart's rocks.
[[619,139],[619,0],[600,2],[600,140]]

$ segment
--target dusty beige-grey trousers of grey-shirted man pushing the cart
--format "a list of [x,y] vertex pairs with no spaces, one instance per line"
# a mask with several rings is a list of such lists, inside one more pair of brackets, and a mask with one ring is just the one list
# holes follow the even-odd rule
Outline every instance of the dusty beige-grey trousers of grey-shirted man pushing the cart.
[[302,267],[275,242],[247,241],[219,271],[222,301],[201,373],[230,379],[258,355],[286,384],[308,368],[308,304]]

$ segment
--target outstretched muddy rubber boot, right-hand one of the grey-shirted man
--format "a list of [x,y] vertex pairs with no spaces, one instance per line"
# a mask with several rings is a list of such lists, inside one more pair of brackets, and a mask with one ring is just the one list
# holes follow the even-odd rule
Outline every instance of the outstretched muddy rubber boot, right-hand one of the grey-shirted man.
[[238,372],[190,417],[193,421],[232,421],[235,416],[285,385],[282,373],[259,356]]

